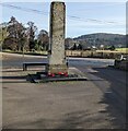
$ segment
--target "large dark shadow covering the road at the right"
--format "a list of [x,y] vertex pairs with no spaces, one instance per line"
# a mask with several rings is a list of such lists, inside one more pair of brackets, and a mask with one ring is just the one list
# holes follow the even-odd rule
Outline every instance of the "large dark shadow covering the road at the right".
[[[91,72],[92,74],[103,79],[109,83],[109,87],[104,93],[101,104],[107,104],[106,110],[109,116],[114,118],[113,124],[119,129],[126,129],[126,76],[128,72],[116,70],[110,67],[106,68],[93,68],[96,72]],[[95,83],[95,82],[94,82]],[[101,83],[95,83],[103,92],[105,86],[101,86]]]

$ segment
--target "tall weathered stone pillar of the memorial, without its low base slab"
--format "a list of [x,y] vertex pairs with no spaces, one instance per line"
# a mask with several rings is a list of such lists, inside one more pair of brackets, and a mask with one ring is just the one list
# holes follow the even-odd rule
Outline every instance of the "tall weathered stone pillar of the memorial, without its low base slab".
[[65,2],[51,2],[49,24],[49,50],[47,73],[67,73],[65,52],[66,5]]

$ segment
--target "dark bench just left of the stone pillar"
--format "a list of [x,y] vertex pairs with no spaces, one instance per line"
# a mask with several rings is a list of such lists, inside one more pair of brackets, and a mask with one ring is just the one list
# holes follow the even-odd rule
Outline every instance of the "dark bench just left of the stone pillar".
[[35,67],[35,66],[46,66],[47,62],[24,62],[23,63],[23,71],[27,70],[27,67]]

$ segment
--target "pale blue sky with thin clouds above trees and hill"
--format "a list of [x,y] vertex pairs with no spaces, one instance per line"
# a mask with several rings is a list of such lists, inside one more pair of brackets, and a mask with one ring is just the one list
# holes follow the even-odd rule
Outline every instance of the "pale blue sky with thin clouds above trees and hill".
[[[13,15],[24,25],[33,21],[39,29],[49,31],[49,2],[7,2],[7,4],[42,11],[16,10],[2,7],[2,21]],[[0,4],[1,5],[1,4]],[[126,34],[125,2],[66,2],[66,37],[92,33]]]

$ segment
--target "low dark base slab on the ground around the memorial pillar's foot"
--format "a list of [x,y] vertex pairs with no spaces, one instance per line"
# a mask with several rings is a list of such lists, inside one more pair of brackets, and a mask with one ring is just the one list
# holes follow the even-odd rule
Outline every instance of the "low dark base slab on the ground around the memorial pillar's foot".
[[37,72],[36,74],[28,74],[27,81],[32,83],[46,83],[46,82],[66,82],[66,81],[86,81],[84,73],[80,72],[78,69],[69,69],[68,75],[56,74],[55,76],[49,76],[46,72]]

